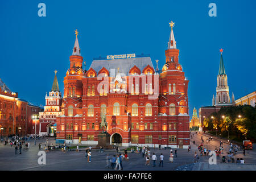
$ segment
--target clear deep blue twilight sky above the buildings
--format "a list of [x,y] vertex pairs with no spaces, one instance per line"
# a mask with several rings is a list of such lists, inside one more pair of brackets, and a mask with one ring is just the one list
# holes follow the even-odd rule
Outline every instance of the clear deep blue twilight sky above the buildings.
[[[46,4],[46,17],[38,4]],[[208,15],[216,3],[217,17]],[[189,80],[189,114],[193,107],[212,105],[223,48],[230,97],[255,88],[256,1],[1,1],[0,78],[19,98],[44,105],[46,92],[63,78],[79,31],[86,69],[93,57],[150,54],[159,68],[170,36],[180,49],[179,62]]]

